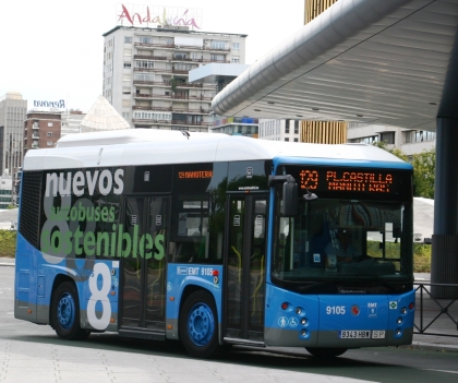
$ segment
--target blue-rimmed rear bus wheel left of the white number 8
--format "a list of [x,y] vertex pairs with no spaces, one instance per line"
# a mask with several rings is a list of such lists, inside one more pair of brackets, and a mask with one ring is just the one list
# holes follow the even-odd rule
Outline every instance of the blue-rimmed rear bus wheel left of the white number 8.
[[65,340],[86,339],[91,332],[80,326],[80,301],[71,282],[58,286],[52,297],[51,323],[56,334]]

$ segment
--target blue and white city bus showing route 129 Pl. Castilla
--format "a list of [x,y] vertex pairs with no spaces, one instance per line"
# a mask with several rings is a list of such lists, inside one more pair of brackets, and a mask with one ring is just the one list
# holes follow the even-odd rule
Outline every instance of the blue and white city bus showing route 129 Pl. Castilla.
[[198,358],[408,345],[412,201],[412,167],[371,145],[68,135],[24,159],[14,315]]

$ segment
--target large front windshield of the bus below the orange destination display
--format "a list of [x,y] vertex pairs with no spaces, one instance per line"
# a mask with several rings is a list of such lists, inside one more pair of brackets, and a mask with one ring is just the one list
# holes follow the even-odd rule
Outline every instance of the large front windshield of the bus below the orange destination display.
[[282,283],[407,282],[411,208],[406,203],[317,199],[277,215],[273,278]]

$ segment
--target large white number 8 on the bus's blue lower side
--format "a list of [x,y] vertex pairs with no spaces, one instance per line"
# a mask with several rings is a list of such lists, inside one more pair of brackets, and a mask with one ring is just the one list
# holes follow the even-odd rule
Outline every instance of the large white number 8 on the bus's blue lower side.
[[[101,289],[97,287],[97,278],[101,276]],[[110,292],[111,275],[110,270],[105,263],[96,263],[94,273],[89,278],[91,297],[87,303],[87,319],[91,325],[96,330],[105,330],[108,327],[111,319],[111,304],[108,300]],[[101,302],[101,318],[96,315],[96,303]]]

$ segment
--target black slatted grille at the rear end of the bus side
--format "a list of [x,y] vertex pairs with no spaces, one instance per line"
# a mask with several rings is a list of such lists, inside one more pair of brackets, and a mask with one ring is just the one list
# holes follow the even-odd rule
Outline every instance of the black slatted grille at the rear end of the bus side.
[[21,187],[22,196],[19,231],[32,246],[39,249],[41,172],[24,171]]

